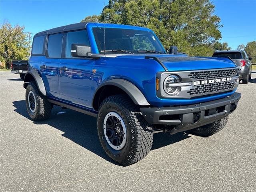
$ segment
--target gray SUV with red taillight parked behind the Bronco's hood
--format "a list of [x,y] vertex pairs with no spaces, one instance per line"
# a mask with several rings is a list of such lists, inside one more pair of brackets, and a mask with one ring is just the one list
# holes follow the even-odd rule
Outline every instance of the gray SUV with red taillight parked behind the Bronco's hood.
[[215,51],[212,57],[231,58],[239,67],[239,80],[247,84],[252,77],[252,58],[248,57],[244,50],[235,51]]

